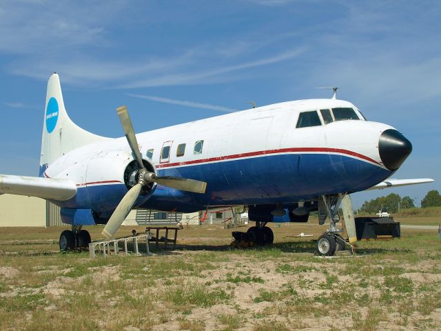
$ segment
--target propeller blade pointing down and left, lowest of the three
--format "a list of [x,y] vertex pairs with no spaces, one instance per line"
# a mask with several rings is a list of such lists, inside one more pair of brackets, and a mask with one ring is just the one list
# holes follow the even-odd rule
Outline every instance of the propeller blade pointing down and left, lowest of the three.
[[119,205],[116,206],[116,209],[107,224],[105,225],[103,232],[101,232],[104,237],[106,237],[107,239],[113,237],[115,232],[121,226],[121,223],[123,223],[125,217],[127,217],[130,210],[132,210],[136,199],[138,199],[139,197],[141,188],[143,188],[143,185],[137,183],[136,185],[134,185],[133,188],[129,190],[129,192],[125,194]]

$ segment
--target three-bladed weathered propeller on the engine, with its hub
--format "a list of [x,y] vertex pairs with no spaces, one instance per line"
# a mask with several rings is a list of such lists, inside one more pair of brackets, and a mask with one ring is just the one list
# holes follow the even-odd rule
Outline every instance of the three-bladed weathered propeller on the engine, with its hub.
[[136,162],[139,165],[139,176],[138,183],[136,183],[129,192],[125,194],[123,199],[121,199],[119,205],[116,206],[112,216],[104,227],[102,232],[103,236],[110,239],[115,234],[116,230],[121,226],[125,217],[132,210],[136,199],[138,199],[141,190],[148,183],[158,183],[160,185],[167,186],[169,188],[176,188],[178,190],[194,192],[194,193],[205,193],[207,188],[207,183],[205,181],[196,181],[194,179],[187,179],[181,177],[159,177],[154,172],[149,172],[143,163],[143,158],[141,157],[141,152],[139,152],[138,141],[133,130],[132,121],[130,120],[129,113],[127,112],[127,107],[122,106],[116,109],[118,113],[119,120],[121,121],[121,126],[123,127],[125,137],[129,143],[130,150],[134,154]]

